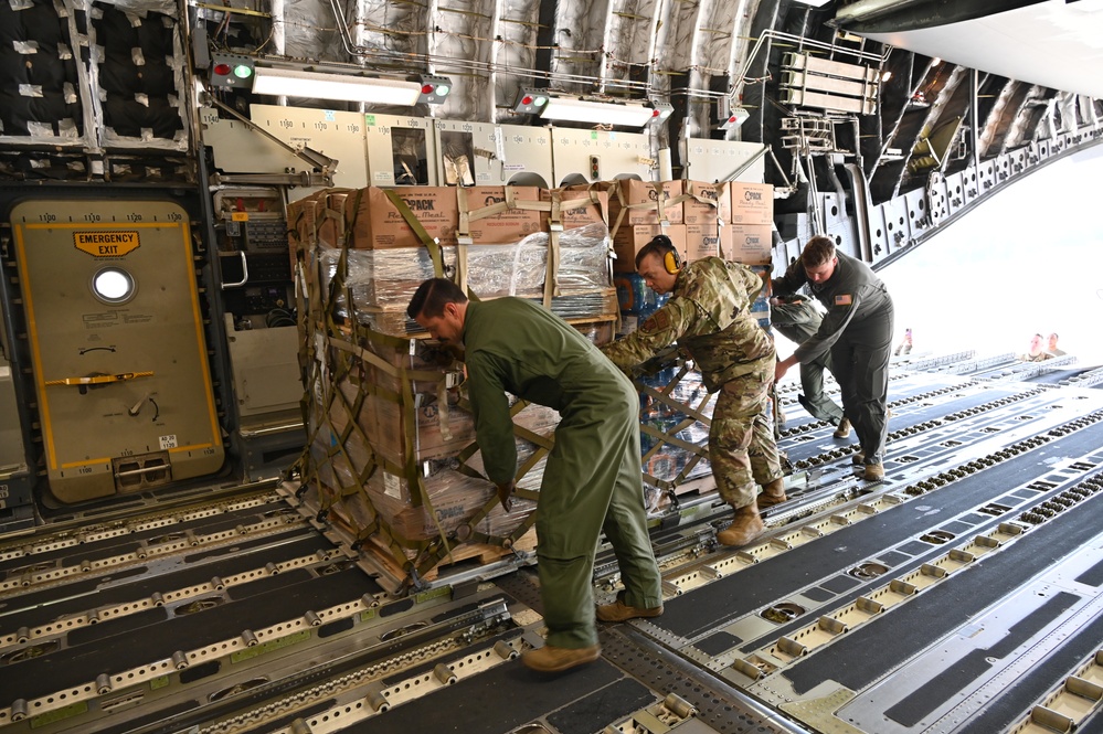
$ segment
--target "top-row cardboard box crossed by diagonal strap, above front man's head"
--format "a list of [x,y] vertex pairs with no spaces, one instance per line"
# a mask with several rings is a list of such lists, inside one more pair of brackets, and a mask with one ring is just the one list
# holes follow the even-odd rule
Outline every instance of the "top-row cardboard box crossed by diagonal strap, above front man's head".
[[[431,237],[442,245],[456,244],[459,208],[455,189],[401,187],[394,189]],[[386,192],[368,187],[351,192],[344,202],[344,221],[352,226],[352,246],[361,249],[421,247],[414,231],[388,199]]]

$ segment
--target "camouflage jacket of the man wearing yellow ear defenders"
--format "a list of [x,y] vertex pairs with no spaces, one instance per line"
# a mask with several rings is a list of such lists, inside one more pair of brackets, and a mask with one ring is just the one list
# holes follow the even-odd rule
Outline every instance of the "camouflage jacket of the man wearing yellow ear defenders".
[[775,358],[768,334],[751,316],[762,278],[746,266],[719,257],[687,265],[666,306],[633,333],[602,348],[622,370],[630,370],[675,342],[697,362],[709,392]]

